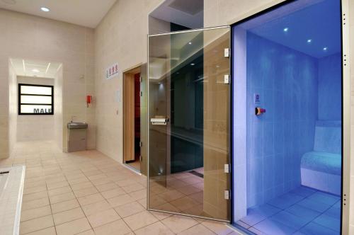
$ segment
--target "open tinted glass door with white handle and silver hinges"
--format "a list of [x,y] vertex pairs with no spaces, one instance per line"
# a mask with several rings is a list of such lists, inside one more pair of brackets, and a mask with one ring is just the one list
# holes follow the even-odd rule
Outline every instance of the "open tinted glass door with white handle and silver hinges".
[[230,221],[229,45],[229,27],[149,36],[149,210]]

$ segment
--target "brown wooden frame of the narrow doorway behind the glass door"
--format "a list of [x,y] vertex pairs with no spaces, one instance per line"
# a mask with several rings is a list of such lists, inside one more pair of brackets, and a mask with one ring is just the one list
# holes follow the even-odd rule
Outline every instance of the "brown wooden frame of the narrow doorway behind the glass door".
[[135,74],[140,73],[140,65],[123,71],[123,164],[135,160]]

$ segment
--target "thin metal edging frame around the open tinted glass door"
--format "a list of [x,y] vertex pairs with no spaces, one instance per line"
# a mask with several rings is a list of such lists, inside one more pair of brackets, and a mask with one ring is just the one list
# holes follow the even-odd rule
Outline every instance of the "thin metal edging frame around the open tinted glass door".
[[[217,30],[217,29],[222,29],[222,28],[228,28],[229,29],[229,84],[227,84],[229,86],[229,105],[228,107],[231,108],[232,107],[232,27],[231,25],[223,25],[223,26],[217,26],[217,27],[210,27],[210,28],[200,28],[200,29],[193,29],[193,30],[180,30],[180,31],[175,31],[175,32],[170,32],[170,33],[157,33],[157,34],[152,34],[152,35],[147,35],[147,210],[148,211],[154,211],[154,212],[163,212],[163,213],[167,213],[167,214],[177,214],[177,215],[182,215],[182,216],[187,216],[187,217],[195,217],[195,218],[200,218],[200,219],[208,219],[208,220],[212,220],[212,221],[217,221],[217,222],[227,222],[229,224],[232,223],[232,208],[233,208],[233,200],[232,200],[232,179],[233,179],[233,172],[232,170],[229,171],[229,182],[230,182],[230,188],[229,188],[229,210],[230,210],[230,219],[229,220],[224,220],[224,219],[215,219],[215,218],[211,218],[211,217],[202,217],[202,216],[198,216],[198,215],[193,215],[193,214],[183,214],[183,213],[178,213],[178,212],[169,212],[169,211],[164,211],[164,210],[156,210],[153,208],[149,207],[149,176],[150,176],[150,163],[149,163],[149,159],[150,159],[150,105],[149,105],[149,92],[150,92],[150,87],[149,87],[149,38],[152,37],[158,37],[158,36],[162,36],[162,35],[174,35],[174,34],[181,34],[181,33],[193,33],[193,32],[204,32],[207,30]],[[231,120],[231,115],[232,112],[231,110],[229,110],[229,127],[228,127],[228,131],[229,131],[229,168],[232,169],[232,120]]]

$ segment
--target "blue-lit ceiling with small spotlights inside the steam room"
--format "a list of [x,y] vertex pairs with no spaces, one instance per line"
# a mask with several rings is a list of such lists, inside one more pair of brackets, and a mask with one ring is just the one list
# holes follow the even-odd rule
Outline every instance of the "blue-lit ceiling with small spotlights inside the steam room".
[[[341,52],[340,1],[312,2],[316,4],[307,5],[302,9],[296,6],[296,10],[290,14],[282,15],[281,11],[284,9],[281,8],[271,11],[244,23],[241,27],[312,57],[321,58]],[[282,8],[289,11],[292,7],[292,4],[288,4]]]

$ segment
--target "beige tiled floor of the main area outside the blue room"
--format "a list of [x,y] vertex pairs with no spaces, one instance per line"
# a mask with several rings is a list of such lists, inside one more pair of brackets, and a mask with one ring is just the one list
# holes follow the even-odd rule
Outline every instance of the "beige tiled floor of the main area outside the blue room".
[[0,167],[25,164],[21,234],[236,234],[224,224],[148,212],[144,176],[99,151],[18,143]]

